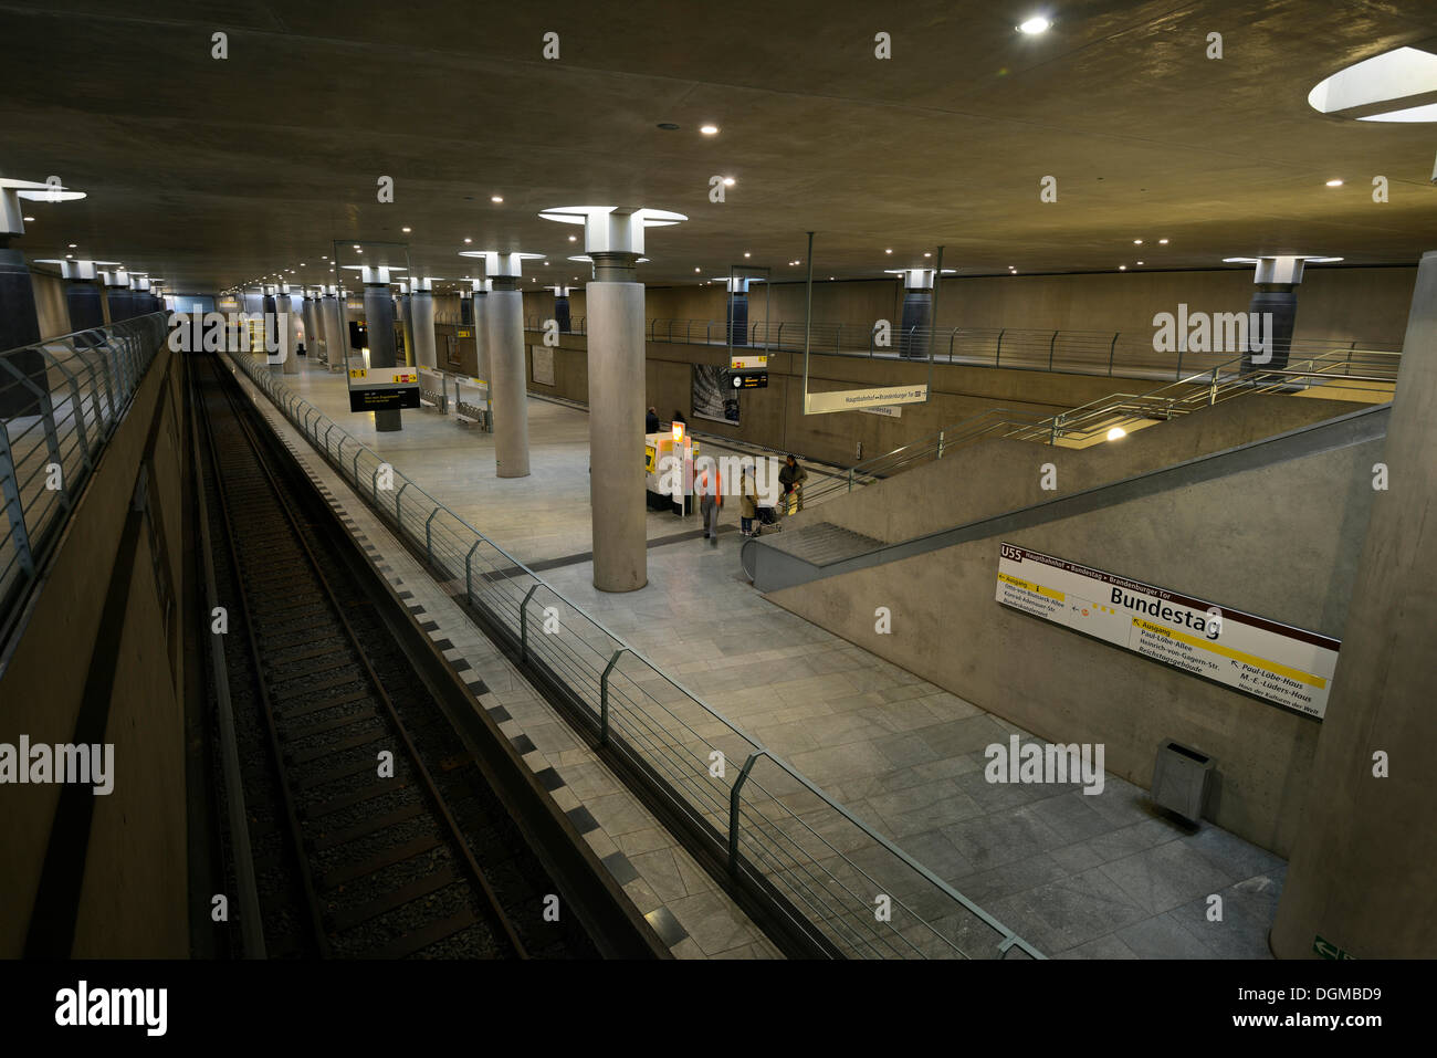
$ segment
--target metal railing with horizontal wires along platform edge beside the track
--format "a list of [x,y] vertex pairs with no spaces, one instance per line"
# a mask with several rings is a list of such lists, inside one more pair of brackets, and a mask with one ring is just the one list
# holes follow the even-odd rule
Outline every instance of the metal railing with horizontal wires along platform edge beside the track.
[[[598,740],[652,779],[691,834],[818,947],[848,957],[1043,957],[425,493],[256,356],[234,362],[422,551],[520,658],[562,684]],[[381,489],[381,467],[392,487]],[[884,900],[887,898],[887,900]]]

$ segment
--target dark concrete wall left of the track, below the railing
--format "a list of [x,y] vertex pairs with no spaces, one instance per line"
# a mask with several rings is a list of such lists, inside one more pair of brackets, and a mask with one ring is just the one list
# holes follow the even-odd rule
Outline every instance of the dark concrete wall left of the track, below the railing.
[[[68,743],[101,637],[119,635],[103,740],[115,745],[115,788],[95,798],[73,954],[185,957],[188,894],[182,717],[182,513],[185,459],[178,354],[162,348],[129,414],[101,456],[57,545],[29,622],[0,671],[0,742]],[[161,512],[174,610],[160,610],[149,535],[121,556],[132,578],[118,627],[101,611],[151,427],[151,477]],[[50,841],[59,785],[6,785],[0,812],[0,956],[19,956]]]

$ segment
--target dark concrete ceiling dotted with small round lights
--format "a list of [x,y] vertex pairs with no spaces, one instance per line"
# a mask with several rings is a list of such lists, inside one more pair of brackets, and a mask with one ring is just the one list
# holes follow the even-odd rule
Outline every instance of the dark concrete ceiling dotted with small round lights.
[[[1048,33],[1015,32],[1036,12]],[[1388,49],[1437,50],[1433,14],[1433,0],[0,1],[0,175],[89,193],[30,204],[17,246],[32,257],[121,260],[193,292],[287,269],[322,282],[322,256],[364,240],[407,242],[415,269],[445,277],[477,275],[463,249],[539,250],[550,264],[525,286],[582,282],[560,263],[579,229],[536,214],[589,203],[688,214],[650,231],[639,275],[655,285],[744,252],[798,279],[810,229],[822,279],[931,264],[935,244],[963,275],[1263,252],[1413,263],[1437,247],[1437,128],[1323,116],[1306,96]],[[723,204],[716,174],[736,180]],[[381,175],[394,204],[376,201]],[[1390,203],[1372,201],[1374,175]]]

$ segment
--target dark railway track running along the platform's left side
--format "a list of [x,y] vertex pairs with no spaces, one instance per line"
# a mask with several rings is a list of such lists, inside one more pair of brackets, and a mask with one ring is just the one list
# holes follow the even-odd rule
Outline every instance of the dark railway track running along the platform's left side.
[[228,372],[190,365],[267,954],[596,956]]

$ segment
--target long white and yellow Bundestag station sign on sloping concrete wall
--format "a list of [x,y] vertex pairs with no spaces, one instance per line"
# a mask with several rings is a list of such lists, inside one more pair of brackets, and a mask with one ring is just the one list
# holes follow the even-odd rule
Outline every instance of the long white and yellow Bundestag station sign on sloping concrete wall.
[[1341,641],[999,545],[997,601],[1319,720]]

